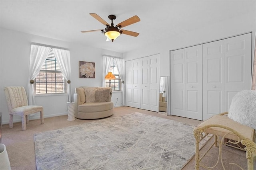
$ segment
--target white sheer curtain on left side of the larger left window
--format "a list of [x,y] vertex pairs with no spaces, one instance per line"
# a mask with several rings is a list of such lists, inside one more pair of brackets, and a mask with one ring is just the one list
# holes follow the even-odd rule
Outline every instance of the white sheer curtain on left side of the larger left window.
[[30,51],[30,61],[28,69],[28,104],[36,105],[34,98],[34,86],[33,82],[36,78],[38,72],[40,71],[46,57],[50,51],[50,47],[40,46],[40,45],[31,45]]

